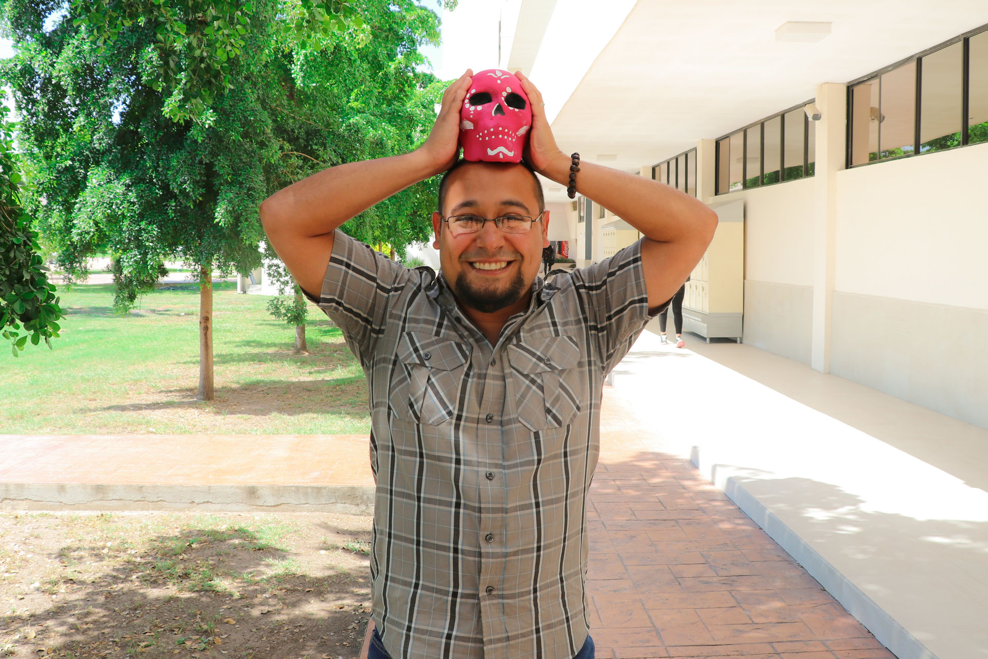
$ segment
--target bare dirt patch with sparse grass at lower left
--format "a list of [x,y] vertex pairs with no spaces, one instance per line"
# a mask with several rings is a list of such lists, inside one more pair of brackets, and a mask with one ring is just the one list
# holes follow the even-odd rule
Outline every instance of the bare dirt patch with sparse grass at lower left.
[[371,518],[0,514],[0,657],[358,657]]

